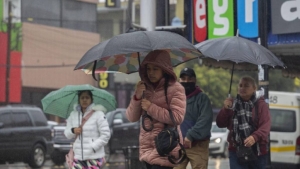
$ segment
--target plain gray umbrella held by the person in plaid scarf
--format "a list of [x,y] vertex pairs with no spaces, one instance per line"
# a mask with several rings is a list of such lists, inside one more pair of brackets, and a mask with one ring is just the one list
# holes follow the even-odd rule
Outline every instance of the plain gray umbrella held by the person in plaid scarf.
[[257,70],[257,65],[285,68],[267,48],[238,36],[206,40],[195,47],[203,54],[200,56],[203,64],[232,69],[229,94],[234,69]]

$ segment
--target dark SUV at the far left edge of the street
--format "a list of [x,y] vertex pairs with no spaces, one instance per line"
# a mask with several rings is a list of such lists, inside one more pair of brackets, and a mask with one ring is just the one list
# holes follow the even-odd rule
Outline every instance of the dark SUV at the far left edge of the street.
[[42,110],[30,105],[0,107],[0,163],[44,165],[53,150],[51,129]]

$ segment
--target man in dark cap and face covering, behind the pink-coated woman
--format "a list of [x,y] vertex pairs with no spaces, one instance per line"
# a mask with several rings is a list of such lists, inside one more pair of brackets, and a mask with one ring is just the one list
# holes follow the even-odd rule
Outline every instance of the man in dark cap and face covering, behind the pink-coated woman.
[[196,86],[196,74],[191,68],[180,72],[180,83],[185,88],[186,114],[180,128],[184,138],[187,158],[175,169],[207,169],[209,139],[213,111],[208,96]]

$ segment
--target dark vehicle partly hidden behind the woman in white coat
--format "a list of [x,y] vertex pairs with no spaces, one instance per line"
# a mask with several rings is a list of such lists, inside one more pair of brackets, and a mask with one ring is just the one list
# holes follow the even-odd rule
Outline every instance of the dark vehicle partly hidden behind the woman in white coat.
[[[131,123],[126,118],[126,109],[119,108],[106,114],[111,130],[111,138],[105,147],[107,161],[110,155],[122,152],[124,147],[138,147],[140,123]],[[65,125],[54,126],[54,151],[51,160],[61,165],[65,162],[65,155],[69,152],[74,139],[67,139],[64,135]]]

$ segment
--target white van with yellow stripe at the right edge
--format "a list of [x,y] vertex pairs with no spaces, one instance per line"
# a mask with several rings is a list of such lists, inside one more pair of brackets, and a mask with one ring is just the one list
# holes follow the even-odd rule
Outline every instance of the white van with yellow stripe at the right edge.
[[269,91],[272,166],[300,168],[300,93]]

